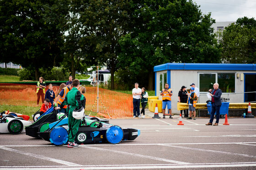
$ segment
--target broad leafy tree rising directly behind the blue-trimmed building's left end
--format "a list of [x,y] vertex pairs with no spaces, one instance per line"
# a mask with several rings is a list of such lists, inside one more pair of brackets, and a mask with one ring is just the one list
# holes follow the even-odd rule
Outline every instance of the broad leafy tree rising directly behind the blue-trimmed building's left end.
[[166,62],[219,62],[220,49],[213,35],[214,20],[202,15],[192,0],[140,0],[134,8],[128,34],[119,41],[120,66],[148,75],[153,89],[153,68]]

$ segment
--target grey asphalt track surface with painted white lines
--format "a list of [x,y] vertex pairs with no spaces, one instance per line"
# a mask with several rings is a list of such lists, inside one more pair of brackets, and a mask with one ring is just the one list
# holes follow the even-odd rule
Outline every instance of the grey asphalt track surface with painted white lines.
[[[208,118],[110,120],[141,130],[133,141],[67,148],[23,134],[0,134],[0,170],[256,169],[256,118],[229,118],[230,125],[206,126]],[[162,117],[162,114],[159,114]]]

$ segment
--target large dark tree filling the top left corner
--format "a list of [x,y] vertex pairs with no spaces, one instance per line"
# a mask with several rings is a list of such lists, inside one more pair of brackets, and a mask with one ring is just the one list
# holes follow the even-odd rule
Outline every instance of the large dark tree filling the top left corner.
[[1,0],[0,55],[35,70],[62,61],[69,0]]

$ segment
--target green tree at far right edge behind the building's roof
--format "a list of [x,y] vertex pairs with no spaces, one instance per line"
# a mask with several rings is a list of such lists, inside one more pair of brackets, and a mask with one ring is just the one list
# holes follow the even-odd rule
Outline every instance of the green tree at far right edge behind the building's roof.
[[256,20],[239,18],[220,34],[222,60],[228,63],[256,62]]

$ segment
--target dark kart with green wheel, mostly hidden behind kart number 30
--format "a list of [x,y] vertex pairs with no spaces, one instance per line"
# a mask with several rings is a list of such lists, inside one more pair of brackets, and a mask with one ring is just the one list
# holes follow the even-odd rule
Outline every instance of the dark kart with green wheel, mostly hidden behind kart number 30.
[[[50,123],[53,123],[53,122],[61,119],[63,116],[66,116],[64,113],[57,114],[57,111],[54,110],[53,107],[48,109],[41,116],[40,116],[40,114],[39,115],[37,115],[37,113],[35,113],[35,114],[33,116],[33,119],[35,118],[35,116],[37,116],[37,120],[32,125],[26,127],[25,129],[26,129],[26,135],[29,135],[34,138],[39,138],[39,139],[41,137],[38,136],[37,132],[44,132],[45,130],[48,129],[48,126]],[[101,119],[98,117],[92,117],[92,116],[88,116],[88,115],[85,115],[85,118],[90,119],[90,120],[102,121],[102,122],[106,122],[106,123],[109,122],[109,120]]]

